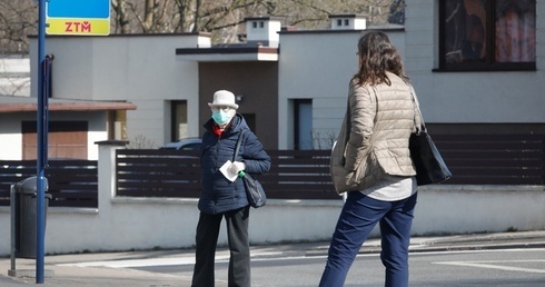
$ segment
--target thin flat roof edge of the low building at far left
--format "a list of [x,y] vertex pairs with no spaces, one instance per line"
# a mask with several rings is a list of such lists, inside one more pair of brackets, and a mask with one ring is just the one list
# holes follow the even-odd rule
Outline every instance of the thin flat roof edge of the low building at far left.
[[[69,99],[49,99],[49,111],[90,111],[90,110],[136,110],[137,106],[126,101],[88,101]],[[0,113],[18,111],[37,111],[38,99],[34,97],[0,96]]]

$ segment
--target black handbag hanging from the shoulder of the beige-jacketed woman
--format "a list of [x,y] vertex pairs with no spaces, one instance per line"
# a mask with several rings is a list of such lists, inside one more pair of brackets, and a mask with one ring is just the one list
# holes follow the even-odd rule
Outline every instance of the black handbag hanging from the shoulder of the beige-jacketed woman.
[[420,125],[416,126],[416,132],[413,132],[409,138],[410,158],[416,168],[416,182],[418,186],[440,184],[449,179],[453,174],[448,170],[439,150],[437,150],[432,137],[426,130],[418,99],[414,91],[412,95],[413,102],[415,103],[415,112],[418,112],[420,116]]

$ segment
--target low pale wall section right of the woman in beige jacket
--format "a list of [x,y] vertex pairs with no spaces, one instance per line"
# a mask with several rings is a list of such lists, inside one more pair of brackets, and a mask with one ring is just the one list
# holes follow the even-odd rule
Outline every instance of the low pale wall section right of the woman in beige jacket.
[[542,186],[419,187],[414,235],[545,228]]

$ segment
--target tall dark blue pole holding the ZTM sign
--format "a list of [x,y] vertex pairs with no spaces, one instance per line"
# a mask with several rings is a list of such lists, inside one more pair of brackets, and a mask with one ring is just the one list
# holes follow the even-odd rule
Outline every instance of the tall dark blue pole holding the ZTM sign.
[[46,208],[44,208],[44,169],[47,166],[47,138],[48,138],[48,97],[44,89],[44,50],[46,50],[46,1],[39,2],[39,27],[38,27],[38,118],[37,118],[37,205],[36,205],[36,283],[43,284],[44,277],[44,232],[46,232]]

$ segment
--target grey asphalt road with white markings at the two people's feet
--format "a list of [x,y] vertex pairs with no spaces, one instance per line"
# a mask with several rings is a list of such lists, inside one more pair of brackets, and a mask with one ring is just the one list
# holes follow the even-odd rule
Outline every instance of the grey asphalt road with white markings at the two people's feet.
[[[252,287],[317,286],[328,243],[297,243],[251,247]],[[345,286],[384,286],[380,240],[360,249]],[[545,286],[545,230],[414,237],[410,240],[412,287]],[[216,287],[227,286],[229,250],[216,254]],[[194,249],[50,255],[43,285],[54,287],[187,287],[191,283]],[[10,258],[0,258],[0,286],[33,285],[36,263],[17,260],[17,276],[8,275]]]

